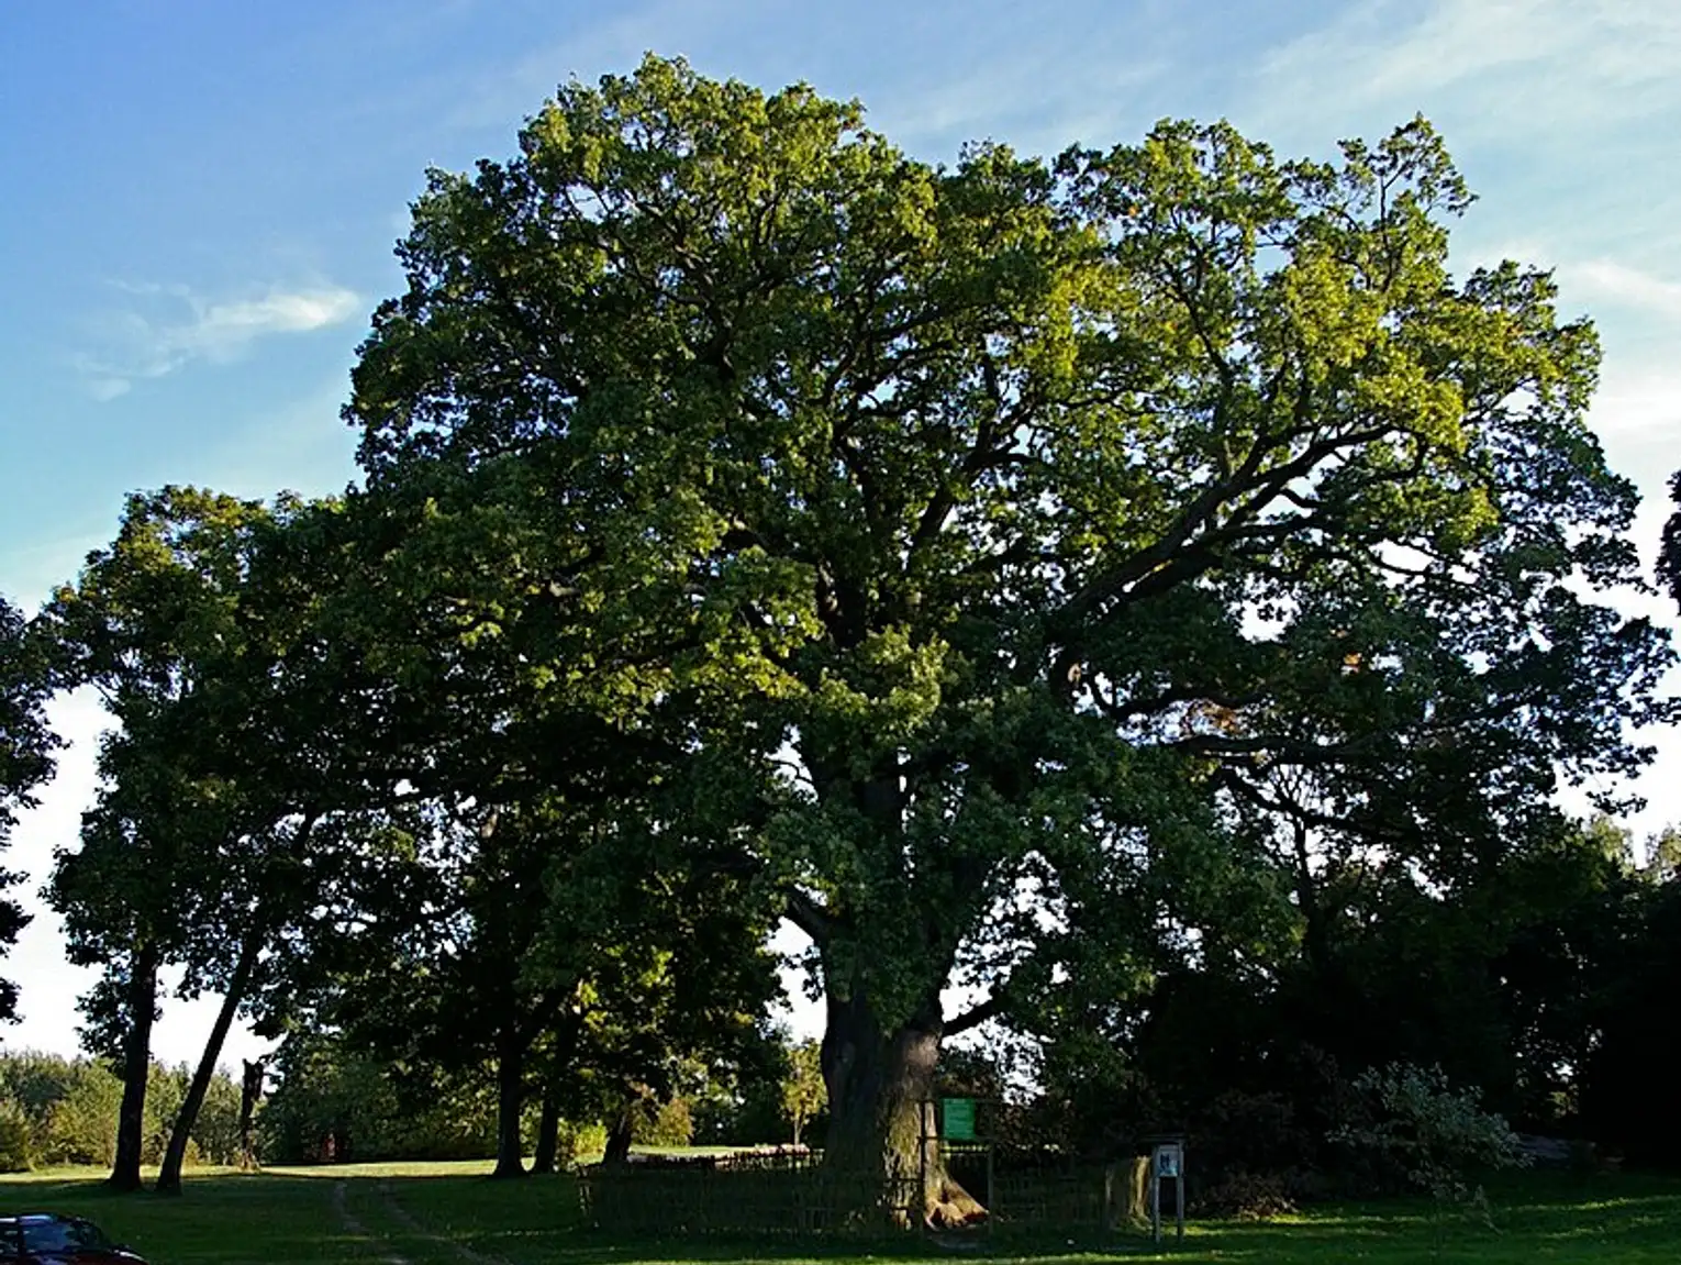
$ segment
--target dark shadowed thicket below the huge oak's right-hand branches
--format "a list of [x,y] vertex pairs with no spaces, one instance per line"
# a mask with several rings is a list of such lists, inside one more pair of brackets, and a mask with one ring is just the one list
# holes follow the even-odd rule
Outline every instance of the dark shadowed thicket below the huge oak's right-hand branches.
[[1656,1063],[1627,1095],[1634,1068],[1610,1073],[1617,1048],[1664,1048],[1651,991],[1664,976],[1649,972],[1666,952],[1649,922],[1664,890],[1604,819],[1541,819],[1446,888],[1394,865],[1321,868],[1308,890],[1316,942],[1298,912],[1298,935],[1267,955],[1180,964],[1141,1001],[1071,981],[1062,1026],[1044,1029],[1039,1110],[1093,1154],[1190,1132],[1199,1189],[1267,1174],[1298,1199],[1394,1184],[1326,1137],[1368,1124],[1353,1082],[1395,1060],[1441,1067],[1525,1130],[1619,1142],[1602,1112],[1620,1112],[1671,1146]]

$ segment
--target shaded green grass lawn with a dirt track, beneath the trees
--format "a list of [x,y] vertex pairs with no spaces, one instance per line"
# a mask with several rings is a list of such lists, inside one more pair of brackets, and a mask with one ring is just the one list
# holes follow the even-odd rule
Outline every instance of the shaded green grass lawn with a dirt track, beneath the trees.
[[[200,1171],[187,1194],[113,1196],[96,1172],[0,1178],[0,1213],[91,1216],[153,1265],[664,1265],[666,1262],[920,1262],[985,1257],[1074,1265],[1106,1257],[1151,1258],[1146,1238],[1061,1236],[940,1243],[894,1240],[614,1240],[578,1223],[566,1178],[484,1181],[487,1164],[355,1164],[269,1169],[256,1176]],[[1266,1225],[1194,1223],[1163,1258],[1199,1262],[1540,1262],[1634,1265],[1681,1260],[1681,1179],[1525,1178],[1493,1194],[1493,1228],[1429,1203],[1330,1206]]]

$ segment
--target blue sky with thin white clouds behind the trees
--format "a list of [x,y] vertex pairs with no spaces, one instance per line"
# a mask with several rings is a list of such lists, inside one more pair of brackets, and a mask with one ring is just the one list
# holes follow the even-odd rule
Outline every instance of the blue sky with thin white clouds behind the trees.
[[[1136,140],[1162,116],[1230,118],[1328,156],[1422,111],[1481,202],[1466,266],[1557,269],[1605,341],[1592,421],[1649,501],[1681,466],[1681,5],[1673,0],[10,0],[0,8],[0,592],[74,575],[134,488],[324,493],[353,478],[338,421],[390,247],[427,165],[513,151],[568,76],[644,50],[763,87],[857,96],[913,153]],[[1674,622],[1663,602],[1631,609]],[[7,858],[30,890],[74,841],[97,708]],[[1681,819],[1681,744],[1642,779]],[[74,996],[42,915],[7,964],[13,1046],[74,1048]],[[203,1004],[166,1009],[190,1058]],[[240,1038],[245,1041],[245,1038]],[[235,1043],[230,1056],[244,1046]]]

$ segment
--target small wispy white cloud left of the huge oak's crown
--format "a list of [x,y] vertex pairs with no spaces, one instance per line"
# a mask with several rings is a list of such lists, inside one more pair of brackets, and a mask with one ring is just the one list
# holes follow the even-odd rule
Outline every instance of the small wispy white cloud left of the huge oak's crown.
[[212,299],[187,286],[116,283],[134,303],[94,321],[97,350],[72,357],[96,400],[128,394],[136,380],[158,378],[195,362],[225,363],[276,335],[341,325],[360,310],[343,286],[272,286],[256,298]]

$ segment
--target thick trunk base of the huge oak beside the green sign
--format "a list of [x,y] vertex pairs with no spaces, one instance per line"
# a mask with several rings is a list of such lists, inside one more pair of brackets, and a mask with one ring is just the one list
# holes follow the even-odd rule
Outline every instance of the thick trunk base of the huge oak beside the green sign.
[[[830,991],[822,1065],[829,1087],[825,1162],[846,1179],[854,1215],[886,1208],[898,1225],[960,1226],[987,1209],[946,1172],[935,1127],[938,994],[886,1031],[866,996]],[[856,1183],[856,1186],[854,1186]]]

